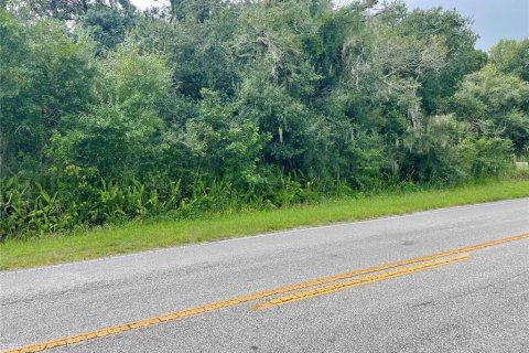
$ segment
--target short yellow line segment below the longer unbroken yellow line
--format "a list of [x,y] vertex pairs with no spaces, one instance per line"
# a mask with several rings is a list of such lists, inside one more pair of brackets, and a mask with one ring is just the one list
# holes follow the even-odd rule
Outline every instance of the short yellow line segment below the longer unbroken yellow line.
[[258,304],[253,306],[251,309],[252,310],[261,310],[261,309],[267,309],[267,308],[270,308],[270,307],[282,306],[282,304],[291,303],[291,302],[299,301],[299,300],[305,300],[305,299],[310,299],[310,298],[314,298],[314,297],[319,297],[319,296],[333,293],[333,292],[344,290],[344,289],[348,289],[348,288],[352,288],[352,287],[364,286],[364,285],[373,284],[373,282],[376,282],[376,281],[390,279],[390,278],[393,278],[393,277],[404,276],[404,275],[409,275],[409,274],[412,274],[412,272],[418,272],[418,271],[431,269],[431,268],[443,266],[443,265],[450,265],[450,264],[453,264],[453,263],[466,260],[468,258],[471,258],[471,256],[468,254],[463,254],[463,255],[457,255],[457,256],[454,256],[454,257],[435,259],[435,260],[422,263],[422,264],[419,264],[419,265],[400,267],[398,269],[381,272],[381,274],[378,274],[378,275],[364,276],[364,277],[359,277],[359,278],[356,278],[356,279],[353,279],[353,280],[337,282],[336,285],[317,287],[317,288],[301,291],[301,292],[294,292],[290,296],[285,296],[285,297],[281,297],[281,298],[274,298],[272,300],[269,300],[269,301],[266,301],[266,302],[262,302],[262,303],[258,303]]

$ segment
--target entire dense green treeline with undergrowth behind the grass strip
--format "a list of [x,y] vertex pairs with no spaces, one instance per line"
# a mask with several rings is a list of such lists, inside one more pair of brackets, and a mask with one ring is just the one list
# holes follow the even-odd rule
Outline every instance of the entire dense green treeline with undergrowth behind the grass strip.
[[0,4],[2,239],[499,176],[529,153],[529,40],[484,53],[453,10]]

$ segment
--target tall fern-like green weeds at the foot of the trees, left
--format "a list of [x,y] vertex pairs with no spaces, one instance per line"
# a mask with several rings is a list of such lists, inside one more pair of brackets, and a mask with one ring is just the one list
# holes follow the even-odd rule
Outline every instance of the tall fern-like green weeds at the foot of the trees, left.
[[0,180],[0,238],[45,236],[76,227],[162,215],[190,218],[208,213],[277,208],[350,193],[345,185],[335,183],[331,188],[328,182],[305,180],[301,174],[274,175],[245,189],[199,174],[186,185],[182,180],[152,183],[134,178],[91,182],[76,178],[42,184],[6,178]]

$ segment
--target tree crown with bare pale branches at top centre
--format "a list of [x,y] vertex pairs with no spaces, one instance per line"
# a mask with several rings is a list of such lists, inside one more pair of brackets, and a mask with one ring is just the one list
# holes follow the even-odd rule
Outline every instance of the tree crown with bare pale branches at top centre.
[[241,76],[267,75],[295,98],[307,98],[321,78],[305,53],[317,52],[317,23],[307,1],[264,1],[241,14],[230,45]]

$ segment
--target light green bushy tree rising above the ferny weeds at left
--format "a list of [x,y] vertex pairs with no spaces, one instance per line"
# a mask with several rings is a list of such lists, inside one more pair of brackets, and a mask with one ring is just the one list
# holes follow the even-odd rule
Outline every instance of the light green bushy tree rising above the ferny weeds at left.
[[71,127],[55,135],[53,153],[63,165],[95,168],[105,178],[149,174],[165,148],[156,110],[171,74],[163,57],[141,55],[130,42],[109,53],[95,82],[97,103],[64,117]]

